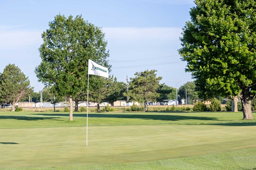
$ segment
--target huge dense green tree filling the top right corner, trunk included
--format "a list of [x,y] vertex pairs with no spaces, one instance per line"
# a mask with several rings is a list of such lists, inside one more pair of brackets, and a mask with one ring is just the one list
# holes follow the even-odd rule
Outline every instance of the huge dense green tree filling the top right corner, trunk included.
[[239,96],[243,119],[253,119],[250,89],[256,84],[256,1],[195,0],[179,52],[196,86]]

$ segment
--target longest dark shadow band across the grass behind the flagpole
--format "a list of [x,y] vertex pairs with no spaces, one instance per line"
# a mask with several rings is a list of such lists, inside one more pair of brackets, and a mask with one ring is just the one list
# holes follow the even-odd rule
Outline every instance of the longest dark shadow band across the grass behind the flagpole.
[[[69,116],[69,114],[41,114],[43,116]],[[73,117],[86,117],[87,114],[73,114]],[[89,118],[126,118],[126,119],[145,119],[161,121],[182,121],[182,120],[206,120],[217,121],[217,118],[202,116],[180,116],[180,115],[155,115],[155,114],[88,114]]]

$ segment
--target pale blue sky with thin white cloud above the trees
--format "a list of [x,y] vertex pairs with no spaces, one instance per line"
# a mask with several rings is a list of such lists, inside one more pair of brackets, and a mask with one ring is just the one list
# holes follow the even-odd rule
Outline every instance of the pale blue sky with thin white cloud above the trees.
[[6,0],[0,1],[0,72],[15,64],[29,77],[35,92],[34,68],[40,64],[41,33],[57,14],[82,15],[102,27],[110,51],[111,75],[126,82],[134,73],[157,70],[160,83],[178,87],[192,81],[177,50],[193,0]]

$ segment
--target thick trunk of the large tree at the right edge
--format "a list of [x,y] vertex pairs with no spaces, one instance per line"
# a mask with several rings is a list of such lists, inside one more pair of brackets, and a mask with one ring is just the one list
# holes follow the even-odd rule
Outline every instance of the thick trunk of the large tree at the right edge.
[[253,119],[253,115],[251,114],[251,95],[249,87],[242,89],[240,98],[243,107],[243,119]]

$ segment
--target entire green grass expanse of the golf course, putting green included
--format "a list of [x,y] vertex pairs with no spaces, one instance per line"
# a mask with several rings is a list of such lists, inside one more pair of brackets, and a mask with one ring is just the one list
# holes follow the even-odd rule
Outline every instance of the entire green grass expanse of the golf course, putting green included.
[[[254,115],[256,116],[256,115]],[[255,169],[242,113],[0,113],[0,168]],[[191,168],[193,167],[193,168]]]

